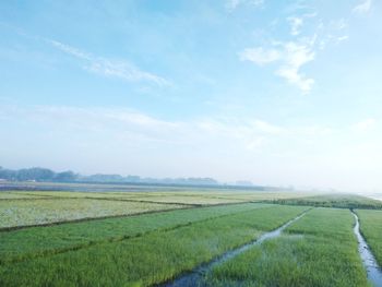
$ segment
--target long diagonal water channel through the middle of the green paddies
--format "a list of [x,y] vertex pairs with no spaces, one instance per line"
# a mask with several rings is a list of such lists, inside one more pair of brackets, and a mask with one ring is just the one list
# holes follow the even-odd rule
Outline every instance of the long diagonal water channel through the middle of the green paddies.
[[291,225],[296,220],[300,219],[307,212],[303,212],[302,214],[300,214],[296,218],[287,222],[285,225],[278,227],[277,229],[262,235],[255,241],[252,241],[252,242],[250,242],[248,244],[241,246],[238,249],[228,251],[227,253],[224,253],[219,258],[198,266],[196,268],[194,268],[190,273],[180,275],[178,278],[176,278],[174,280],[166,282],[166,283],[157,285],[157,286],[162,286],[162,287],[204,286],[205,284],[203,284],[203,277],[213,267],[215,267],[216,265],[219,265],[219,264],[222,264],[222,263],[224,263],[224,262],[226,262],[226,261],[228,261],[228,260],[239,255],[240,253],[242,253],[242,252],[247,251],[248,249],[252,248],[253,246],[261,244],[265,240],[268,240],[268,239],[272,239],[272,238],[280,236],[285,228],[287,228],[289,225]]

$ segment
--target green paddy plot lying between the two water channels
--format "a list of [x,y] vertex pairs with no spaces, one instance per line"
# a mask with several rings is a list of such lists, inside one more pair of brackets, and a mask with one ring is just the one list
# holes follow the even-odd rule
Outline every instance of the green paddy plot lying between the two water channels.
[[215,267],[212,286],[369,286],[349,211],[315,208],[285,235]]

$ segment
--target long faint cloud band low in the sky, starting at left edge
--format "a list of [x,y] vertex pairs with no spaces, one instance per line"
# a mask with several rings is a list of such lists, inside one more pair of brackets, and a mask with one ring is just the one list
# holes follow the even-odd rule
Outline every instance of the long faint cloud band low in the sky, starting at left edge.
[[203,150],[207,145],[216,147],[225,143],[242,151],[255,151],[279,136],[309,135],[298,129],[280,127],[256,118],[208,117],[169,121],[126,108],[2,105],[0,118],[74,137],[124,139],[131,144],[142,146],[167,143],[181,148],[193,146]]

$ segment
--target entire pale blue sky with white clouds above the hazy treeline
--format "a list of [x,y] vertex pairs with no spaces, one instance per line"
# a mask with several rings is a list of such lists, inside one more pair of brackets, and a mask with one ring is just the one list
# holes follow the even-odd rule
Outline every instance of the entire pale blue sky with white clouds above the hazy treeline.
[[0,1],[0,165],[382,191],[382,1]]

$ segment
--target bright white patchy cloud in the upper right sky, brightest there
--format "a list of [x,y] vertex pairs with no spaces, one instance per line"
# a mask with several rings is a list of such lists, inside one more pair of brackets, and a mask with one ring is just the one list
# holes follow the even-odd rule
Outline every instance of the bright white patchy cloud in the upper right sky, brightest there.
[[[368,3],[365,2],[363,5],[366,4]],[[258,65],[273,63],[276,65],[274,71],[276,75],[296,86],[302,94],[309,94],[315,81],[313,76],[305,74],[302,69],[312,63],[317,52],[325,49],[329,44],[338,45],[347,40],[348,23],[344,17],[324,23],[314,9],[296,14],[298,10],[300,9],[293,9],[293,15],[286,17],[290,26],[289,39],[263,39],[265,44],[247,47],[238,55],[241,61],[251,61]],[[302,35],[308,28],[310,28],[309,35]]]

